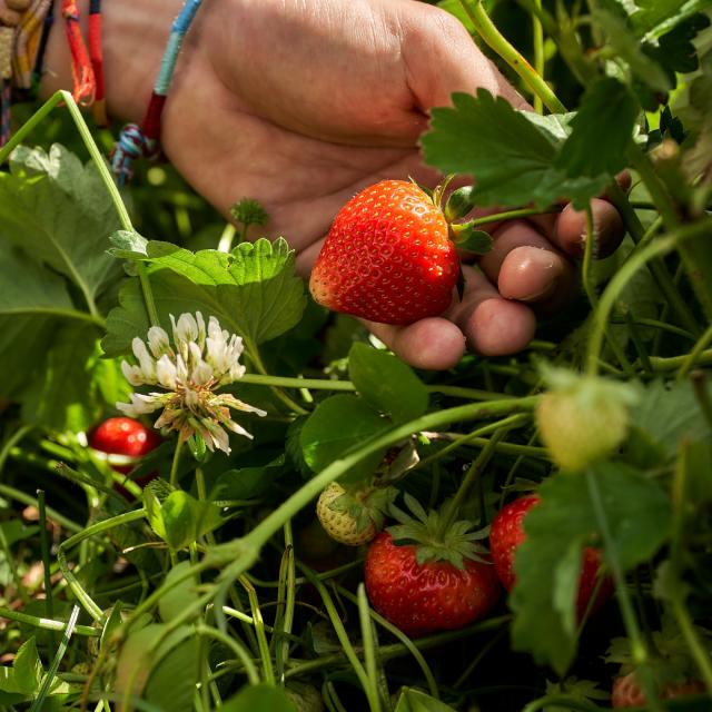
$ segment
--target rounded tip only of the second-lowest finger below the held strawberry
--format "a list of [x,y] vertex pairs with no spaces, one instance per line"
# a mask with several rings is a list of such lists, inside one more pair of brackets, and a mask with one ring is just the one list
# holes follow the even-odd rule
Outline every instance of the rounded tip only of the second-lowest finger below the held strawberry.
[[536,318],[530,307],[518,301],[493,297],[473,312],[467,338],[483,356],[507,356],[526,348],[534,338]]

